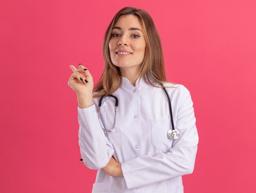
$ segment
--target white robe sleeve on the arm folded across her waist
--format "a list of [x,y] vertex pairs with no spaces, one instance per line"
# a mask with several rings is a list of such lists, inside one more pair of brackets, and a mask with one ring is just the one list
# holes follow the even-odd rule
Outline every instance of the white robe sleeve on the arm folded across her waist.
[[189,90],[180,88],[176,127],[179,139],[167,153],[142,155],[121,163],[128,189],[161,182],[173,177],[191,174],[195,164],[198,132],[195,126],[193,102]]

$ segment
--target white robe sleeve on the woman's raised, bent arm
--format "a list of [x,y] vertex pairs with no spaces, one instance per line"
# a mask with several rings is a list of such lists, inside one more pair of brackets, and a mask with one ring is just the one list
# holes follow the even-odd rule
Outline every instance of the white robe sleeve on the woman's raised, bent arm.
[[94,104],[88,108],[77,107],[81,157],[94,170],[105,167],[114,153],[99,123],[97,108]]

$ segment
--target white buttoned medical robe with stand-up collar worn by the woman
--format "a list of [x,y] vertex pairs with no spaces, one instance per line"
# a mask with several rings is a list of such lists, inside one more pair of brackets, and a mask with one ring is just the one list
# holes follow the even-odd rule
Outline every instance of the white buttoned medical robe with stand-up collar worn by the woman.
[[[171,98],[175,129],[179,139],[170,139],[168,98],[162,88],[143,79],[133,86],[121,77],[113,93],[119,100],[115,132],[104,134],[115,120],[115,99],[99,98],[88,108],[78,107],[79,146],[84,164],[97,169],[92,192],[97,193],[182,193],[182,175],[193,172],[198,145],[193,102],[183,85],[165,83]],[[101,168],[111,157],[121,163],[124,177],[111,177]]]

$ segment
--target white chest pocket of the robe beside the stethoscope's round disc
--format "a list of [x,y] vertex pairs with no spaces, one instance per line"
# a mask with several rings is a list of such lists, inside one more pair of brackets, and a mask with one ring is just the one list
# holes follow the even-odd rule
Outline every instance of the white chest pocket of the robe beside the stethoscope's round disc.
[[173,139],[170,139],[167,136],[167,132],[169,129],[171,129],[171,119],[151,120],[152,144],[158,150],[171,149]]

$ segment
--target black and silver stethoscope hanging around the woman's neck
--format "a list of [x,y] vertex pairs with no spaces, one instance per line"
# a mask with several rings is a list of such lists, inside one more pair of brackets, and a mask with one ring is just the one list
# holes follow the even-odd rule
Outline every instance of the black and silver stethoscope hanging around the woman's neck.
[[[160,83],[160,85],[163,87],[164,85],[162,83]],[[172,124],[172,128],[169,129],[167,131],[167,136],[170,138],[170,139],[179,139],[180,138],[180,132],[174,128],[174,123],[173,123],[173,112],[172,112],[172,107],[171,107],[171,99],[170,99],[170,96],[166,90],[166,88],[164,88],[164,92],[165,94],[167,95],[168,97],[168,102],[169,102],[169,111],[170,111],[170,116],[171,116],[171,124]],[[118,108],[118,99],[116,96],[112,95],[112,94],[106,94],[106,95],[103,95],[101,96],[101,98],[99,99],[99,115],[98,115],[98,119],[100,117],[100,114],[101,114],[101,101],[102,99],[104,99],[105,97],[107,96],[110,96],[110,97],[113,97],[115,99],[115,121],[114,121],[114,125],[112,126],[112,128],[110,129],[105,129],[105,128],[102,128],[102,130],[104,131],[104,133],[108,133],[108,132],[115,132],[115,125],[116,125],[116,122],[117,122],[117,108]],[[100,119],[99,119],[100,120]],[[83,162],[83,159],[80,159],[81,162]]]

